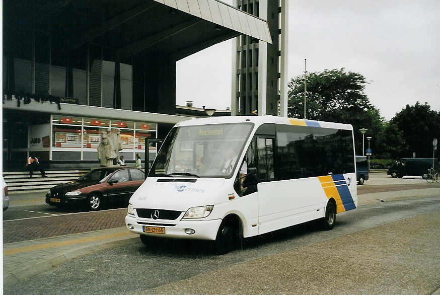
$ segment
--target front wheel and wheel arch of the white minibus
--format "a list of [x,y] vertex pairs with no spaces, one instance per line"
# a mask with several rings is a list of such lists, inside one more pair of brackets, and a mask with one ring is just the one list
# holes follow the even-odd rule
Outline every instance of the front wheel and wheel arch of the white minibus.
[[236,214],[226,215],[218,227],[214,250],[223,255],[243,247],[243,223]]

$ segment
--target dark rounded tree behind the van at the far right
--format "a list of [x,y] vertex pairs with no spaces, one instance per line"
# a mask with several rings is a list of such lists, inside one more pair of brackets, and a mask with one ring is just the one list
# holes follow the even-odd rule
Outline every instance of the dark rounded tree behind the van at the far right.
[[440,139],[440,113],[431,110],[426,102],[416,102],[406,105],[390,122],[402,131],[402,142],[408,145],[405,149],[405,145],[396,142],[401,147],[399,157],[412,157],[415,152],[417,158],[432,158],[432,139]]

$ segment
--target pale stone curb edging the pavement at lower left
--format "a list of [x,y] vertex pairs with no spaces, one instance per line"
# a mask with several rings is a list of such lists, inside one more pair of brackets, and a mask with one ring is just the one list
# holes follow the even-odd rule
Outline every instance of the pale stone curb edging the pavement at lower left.
[[12,286],[17,283],[26,281],[26,279],[36,274],[39,274],[45,270],[51,269],[52,267],[58,266],[62,263],[68,262],[69,260],[78,258],[83,255],[92,254],[112,247],[131,245],[135,239],[138,239],[138,237],[119,237],[115,238],[112,241],[99,241],[92,245],[80,246],[77,249],[60,252],[59,255],[56,255],[45,261],[34,262],[31,263],[31,265],[17,268],[9,274],[4,273],[4,286]]

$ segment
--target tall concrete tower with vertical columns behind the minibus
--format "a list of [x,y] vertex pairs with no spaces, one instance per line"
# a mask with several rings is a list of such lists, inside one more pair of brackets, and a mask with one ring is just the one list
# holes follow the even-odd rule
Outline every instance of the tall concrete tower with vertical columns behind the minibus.
[[241,35],[233,42],[232,115],[287,116],[288,0],[234,0],[267,19],[272,44]]

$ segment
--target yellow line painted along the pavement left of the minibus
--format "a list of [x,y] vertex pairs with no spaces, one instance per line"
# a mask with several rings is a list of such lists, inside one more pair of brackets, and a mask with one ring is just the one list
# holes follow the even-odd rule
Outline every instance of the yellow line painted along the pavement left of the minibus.
[[134,234],[127,231],[127,232],[107,234],[107,235],[102,235],[102,236],[94,236],[94,237],[82,238],[82,239],[76,239],[76,240],[59,241],[59,242],[53,242],[53,243],[41,244],[41,245],[32,245],[32,246],[20,247],[20,248],[15,248],[15,249],[8,249],[8,250],[4,249],[3,255],[18,254],[18,253],[23,253],[23,252],[49,249],[49,248],[54,248],[54,247],[62,247],[62,246],[76,245],[76,244],[81,244],[81,243],[102,241],[102,240],[111,239],[111,238],[125,237],[128,235],[134,236]]

